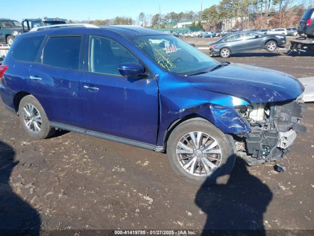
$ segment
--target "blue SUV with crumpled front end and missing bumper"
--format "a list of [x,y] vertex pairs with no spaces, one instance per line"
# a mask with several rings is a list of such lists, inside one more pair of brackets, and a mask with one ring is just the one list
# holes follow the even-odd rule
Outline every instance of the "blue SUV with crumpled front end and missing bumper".
[[26,133],[55,129],[166,152],[193,183],[224,182],[235,157],[284,157],[302,118],[303,86],[260,67],[220,63],[164,32],[60,25],[16,37],[0,94]]

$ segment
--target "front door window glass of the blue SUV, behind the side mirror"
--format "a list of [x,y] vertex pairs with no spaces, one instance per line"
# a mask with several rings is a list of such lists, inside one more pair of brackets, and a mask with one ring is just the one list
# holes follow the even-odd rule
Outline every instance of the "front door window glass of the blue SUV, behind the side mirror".
[[90,39],[89,71],[121,76],[118,67],[121,63],[138,62],[131,53],[108,38],[92,36]]

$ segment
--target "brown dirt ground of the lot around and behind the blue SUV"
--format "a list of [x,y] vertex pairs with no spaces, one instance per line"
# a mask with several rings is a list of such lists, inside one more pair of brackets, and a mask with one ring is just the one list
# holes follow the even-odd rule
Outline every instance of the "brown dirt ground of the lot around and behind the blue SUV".
[[[254,51],[227,60],[314,76],[313,55]],[[228,184],[204,187],[177,177],[165,154],[65,131],[33,140],[1,101],[0,229],[314,229],[307,106],[307,132],[282,161],[285,173],[237,160]]]

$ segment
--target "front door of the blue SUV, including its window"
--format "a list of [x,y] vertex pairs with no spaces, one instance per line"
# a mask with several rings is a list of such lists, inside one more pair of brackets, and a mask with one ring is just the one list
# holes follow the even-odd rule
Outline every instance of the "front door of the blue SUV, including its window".
[[81,80],[87,132],[93,131],[155,145],[158,87],[152,75],[128,79],[118,66],[139,62],[120,43],[100,36],[89,39],[89,68]]

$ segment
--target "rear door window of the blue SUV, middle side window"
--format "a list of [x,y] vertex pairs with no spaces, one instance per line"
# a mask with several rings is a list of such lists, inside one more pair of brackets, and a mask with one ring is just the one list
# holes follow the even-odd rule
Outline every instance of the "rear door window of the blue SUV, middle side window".
[[43,51],[43,64],[78,70],[81,39],[81,36],[49,38]]

